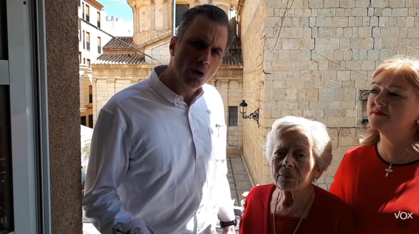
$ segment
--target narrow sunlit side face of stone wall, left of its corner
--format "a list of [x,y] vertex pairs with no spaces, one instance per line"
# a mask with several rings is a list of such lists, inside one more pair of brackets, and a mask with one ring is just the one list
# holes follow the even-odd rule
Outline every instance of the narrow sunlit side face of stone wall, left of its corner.
[[[249,171],[255,183],[262,183],[263,173],[267,167],[263,156],[265,128],[269,125],[265,118],[269,116],[266,111],[265,90],[262,83],[265,81],[263,69],[265,66],[265,26],[266,1],[246,0],[239,12],[240,38],[243,54],[243,99],[248,104],[247,114],[256,108],[260,109],[260,127],[250,119],[243,120],[243,156],[249,166]],[[256,7],[257,6],[257,7]],[[256,89],[253,92],[247,92]],[[267,125],[268,124],[268,125]]]

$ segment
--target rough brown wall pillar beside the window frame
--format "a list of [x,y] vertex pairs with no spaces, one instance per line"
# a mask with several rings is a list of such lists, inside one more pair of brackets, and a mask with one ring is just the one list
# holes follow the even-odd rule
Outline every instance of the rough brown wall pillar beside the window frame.
[[45,0],[54,234],[82,234],[83,226],[77,6],[77,0]]

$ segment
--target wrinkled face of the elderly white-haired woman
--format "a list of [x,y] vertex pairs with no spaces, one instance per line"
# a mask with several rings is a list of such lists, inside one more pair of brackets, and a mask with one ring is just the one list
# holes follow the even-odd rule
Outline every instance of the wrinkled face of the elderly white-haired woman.
[[271,157],[271,177],[282,190],[309,185],[314,177],[315,159],[307,130],[291,128],[282,132]]

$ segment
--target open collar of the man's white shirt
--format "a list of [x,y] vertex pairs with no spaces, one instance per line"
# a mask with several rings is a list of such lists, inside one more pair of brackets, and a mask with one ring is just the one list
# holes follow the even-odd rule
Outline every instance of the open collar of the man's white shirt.
[[[180,102],[183,102],[183,97],[181,95],[177,95],[171,89],[169,89],[162,81],[160,81],[160,75],[166,71],[168,65],[160,65],[153,68],[153,71],[150,74],[149,80],[151,87],[159,94],[163,99],[165,99],[168,103],[176,106]],[[200,87],[196,90],[196,98],[192,101],[194,103],[204,94],[204,90]],[[191,104],[192,104],[191,103]]]

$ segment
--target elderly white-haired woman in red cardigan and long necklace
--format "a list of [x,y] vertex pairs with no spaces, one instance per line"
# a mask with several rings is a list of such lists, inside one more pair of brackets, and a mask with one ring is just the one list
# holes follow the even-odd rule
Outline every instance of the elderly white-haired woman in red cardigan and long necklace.
[[240,234],[353,233],[349,206],[311,183],[332,161],[332,143],[322,123],[278,119],[267,136],[266,157],[273,183],[250,191]]

